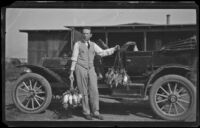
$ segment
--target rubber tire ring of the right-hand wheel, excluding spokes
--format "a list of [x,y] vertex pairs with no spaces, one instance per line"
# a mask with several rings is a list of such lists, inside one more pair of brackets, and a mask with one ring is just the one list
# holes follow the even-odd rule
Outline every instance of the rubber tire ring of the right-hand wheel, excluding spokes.
[[[174,81],[174,80],[184,83],[187,86],[186,88],[189,90],[189,93],[190,93],[190,96],[192,99],[191,99],[191,106],[187,112],[185,112],[182,115],[172,117],[172,116],[164,115],[162,112],[160,112],[160,110],[157,108],[157,105],[154,101],[154,97],[155,97],[157,90],[163,83],[165,83],[167,81]],[[150,89],[149,100],[150,100],[150,105],[151,105],[153,111],[162,119],[170,120],[170,121],[183,121],[183,120],[186,120],[187,117],[189,117],[192,114],[192,112],[195,110],[196,89],[195,89],[195,86],[185,77],[182,77],[179,75],[165,75],[165,76],[160,77],[153,83],[153,86]]]

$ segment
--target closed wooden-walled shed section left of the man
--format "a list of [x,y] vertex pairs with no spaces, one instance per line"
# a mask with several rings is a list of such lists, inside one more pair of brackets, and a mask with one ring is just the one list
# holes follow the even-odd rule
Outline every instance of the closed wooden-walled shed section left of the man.
[[42,57],[58,57],[62,49],[71,50],[70,30],[20,30],[20,32],[28,33],[28,64],[40,65]]

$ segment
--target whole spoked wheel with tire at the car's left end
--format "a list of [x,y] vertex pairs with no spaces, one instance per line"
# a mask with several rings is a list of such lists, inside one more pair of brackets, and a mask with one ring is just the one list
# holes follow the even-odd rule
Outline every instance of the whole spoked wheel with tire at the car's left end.
[[16,81],[12,98],[16,107],[22,112],[39,113],[51,102],[51,86],[43,76],[26,73]]

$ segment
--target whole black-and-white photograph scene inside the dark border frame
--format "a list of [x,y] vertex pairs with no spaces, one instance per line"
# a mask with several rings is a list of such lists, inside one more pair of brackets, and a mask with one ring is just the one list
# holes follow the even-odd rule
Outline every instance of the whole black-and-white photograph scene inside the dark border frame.
[[75,3],[5,8],[5,121],[199,120],[195,3]]

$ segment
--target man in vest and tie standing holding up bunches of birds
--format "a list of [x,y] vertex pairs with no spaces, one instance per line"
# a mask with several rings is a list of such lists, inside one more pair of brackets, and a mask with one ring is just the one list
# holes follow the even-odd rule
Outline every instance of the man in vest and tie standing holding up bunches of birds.
[[83,39],[74,44],[69,78],[70,80],[74,79],[73,72],[75,71],[78,89],[83,95],[82,107],[84,117],[92,120],[93,116],[103,120],[103,116],[99,113],[99,92],[97,75],[93,65],[94,56],[95,54],[102,57],[111,55],[119,49],[119,45],[103,50],[97,44],[90,41],[92,37],[90,28],[83,28],[82,32]]

